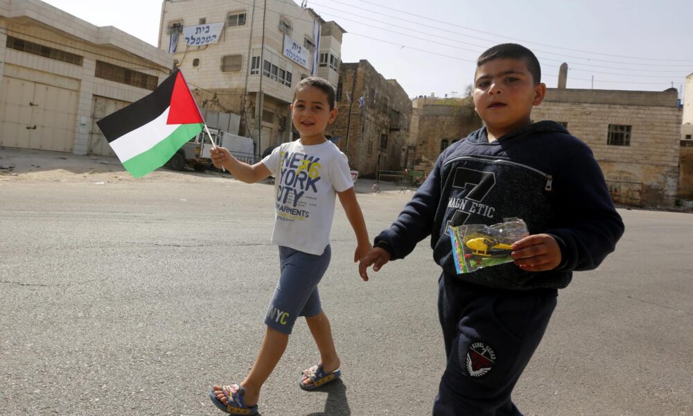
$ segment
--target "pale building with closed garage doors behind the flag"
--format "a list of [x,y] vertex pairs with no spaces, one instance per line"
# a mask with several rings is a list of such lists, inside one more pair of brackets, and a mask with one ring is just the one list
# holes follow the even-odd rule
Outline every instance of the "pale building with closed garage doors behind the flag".
[[166,53],[40,0],[0,0],[0,146],[113,155],[96,126],[164,80]]

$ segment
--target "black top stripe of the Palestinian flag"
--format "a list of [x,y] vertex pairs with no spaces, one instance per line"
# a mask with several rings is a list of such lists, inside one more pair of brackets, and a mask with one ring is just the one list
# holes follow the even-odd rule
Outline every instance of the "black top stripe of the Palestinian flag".
[[121,108],[96,122],[106,140],[111,142],[137,130],[160,116],[171,103],[171,94],[178,71],[174,71],[148,96]]

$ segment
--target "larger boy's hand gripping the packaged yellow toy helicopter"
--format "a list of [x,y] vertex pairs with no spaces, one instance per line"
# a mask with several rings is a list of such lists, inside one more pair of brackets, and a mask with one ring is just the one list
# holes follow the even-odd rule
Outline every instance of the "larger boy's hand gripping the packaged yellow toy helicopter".
[[528,272],[553,270],[561,264],[561,248],[549,234],[534,234],[513,244],[515,264]]

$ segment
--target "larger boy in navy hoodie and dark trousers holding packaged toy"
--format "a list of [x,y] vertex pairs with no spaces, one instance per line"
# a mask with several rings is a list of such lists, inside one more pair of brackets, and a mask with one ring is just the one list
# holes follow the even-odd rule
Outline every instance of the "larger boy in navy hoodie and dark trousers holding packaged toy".
[[[446,148],[397,220],[359,263],[380,270],[431,236],[447,356],[435,416],[521,415],[511,392],[541,341],[559,288],[593,270],[623,234],[590,148],[558,123],[532,123],[546,86],[532,51],[501,44],[477,60],[484,127]],[[514,262],[457,274],[448,225],[522,218]]]

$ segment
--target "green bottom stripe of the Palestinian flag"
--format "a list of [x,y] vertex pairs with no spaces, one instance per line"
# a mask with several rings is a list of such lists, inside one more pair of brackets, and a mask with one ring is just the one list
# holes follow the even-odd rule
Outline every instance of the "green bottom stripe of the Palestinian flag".
[[123,162],[123,167],[134,177],[143,177],[147,173],[155,171],[155,169],[164,166],[186,141],[201,132],[203,126],[202,123],[180,125],[154,147]]

